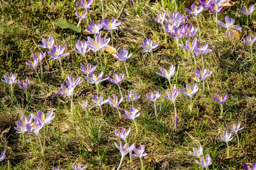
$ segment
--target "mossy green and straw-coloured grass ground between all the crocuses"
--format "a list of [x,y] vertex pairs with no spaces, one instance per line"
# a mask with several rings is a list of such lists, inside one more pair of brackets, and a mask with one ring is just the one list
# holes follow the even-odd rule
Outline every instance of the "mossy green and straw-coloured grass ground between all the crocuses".
[[[218,20],[224,21],[228,15],[236,19],[236,25],[243,28],[241,36],[254,37],[251,24],[246,26],[246,17],[237,10],[242,4],[250,6],[252,3],[253,0],[237,1],[234,6],[219,13]],[[178,4],[178,11],[187,14],[183,2]],[[105,17],[117,17],[123,5],[123,0],[104,0]],[[70,170],[71,164],[82,162],[88,165],[88,169],[112,170],[118,166],[121,158],[114,145],[114,142],[120,141],[114,130],[121,130],[122,127],[131,127],[129,144],[134,143],[136,147],[145,145],[145,153],[148,153],[143,159],[145,170],[201,169],[189,154],[192,147],[198,147],[198,144],[202,145],[205,154],[209,153],[212,157],[212,165],[209,167],[212,170],[239,170],[243,163],[256,161],[256,46],[253,45],[251,55],[249,46],[240,38],[231,40],[226,37],[224,28],[220,28],[219,35],[216,35],[213,14],[203,11],[198,16],[202,32],[198,42],[208,43],[209,49],[213,49],[212,53],[205,55],[204,60],[207,71],[212,70],[213,74],[206,79],[206,90],[203,92],[200,85],[194,96],[192,114],[189,112],[189,97],[181,93],[178,95],[178,130],[175,135],[172,102],[160,97],[157,100],[156,116],[153,102],[146,100],[145,96],[149,91],[160,91],[164,95],[170,91],[168,81],[159,77],[155,71],[160,72],[160,67],[169,68],[171,64],[176,67],[171,79],[176,88],[185,89],[186,83],[195,83],[192,58],[183,54],[182,49],[177,51],[176,42],[170,38],[170,34],[166,48],[162,27],[152,19],[158,12],[172,13],[174,5],[170,1],[165,1],[164,9],[153,0],[134,1],[133,11],[128,3],[120,18],[122,24],[113,34],[116,49],[133,52],[128,59],[130,77],[125,76],[120,86],[125,95],[128,90],[138,91],[142,95],[134,103],[134,107],[141,113],[137,118],[138,133],[133,122],[125,118],[119,120],[116,109],[108,103],[103,106],[105,116],[100,116],[99,108],[93,107],[91,101],[93,94],[96,94],[94,85],[88,86],[84,81],[76,87],[73,114],[70,112],[70,100],[55,94],[56,90],[60,91],[60,85],[67,80],[68,75],[84,76],[79,71],[80,62],[85,63],[84,57],[76,54],[73,48],[77,40],[87,40],[87,35],[74,34],[69,29],[55,25],[63,20],[76,24],[78,19],[75,11],[80,9],[78,6],[70,0],[1,0],[0,7],[0,75],[12,71],[17,74],[17,79],[29,78],[29,102],[24,100],[25,93],[18,83],[15,84],[15,98],[12,99],[9,86],[0,83],[0,152],[6,149],[6,159],[0,162],[0,169],[50,170],[60,166]],[[89,12],[91,20],[96,23],[102,21],[99,1],[93,2]],[[188,19],[196,26],[193,15],[189,15]],[[80,26],[85,29],[85,21]],[[47,55],[47,62],[43,62],[44,82],[39,82],[35,72],[25,62],[32,58],[32,53],[41,50],[35,44],[41,44],[41,39],[48,39],[50,35],[55,44],[66,45],[65,52],[71,54],[62,58],[65,76],[61,76],[58,62],[49,62],[50,57]],[[140,44],[143,44],[144,38],[159,42],[153,60],[147,54],[140,53]],[[104,64],[103,77],[125,72],[122,62],[107,52],[105,54],[108,62]],[[86,57],[93,65],[96,64],[92,52],[88,52]],[[200,57],[197,57],[197,63],[201,69]],[[99,74],[99,70],[96,70],[96,74]],[[101,83],[100,93],[104,99],[113,94],[120,98],[118,87],[109,81]],[[228,94],[223,117],[220,117],[219,105],[211,98],[218,93]],[[82,99],[88,100],[88,116],[78,104]],[[131,103],[124,99],[119,109],[124,113],[130,106]],[[46,153],[43,157],[36,136],[25,135],[26,144],[22,146],[22,136],[15,133],[15,121],[20,120],[22,115],[27,117],[38,110],[47,113],[52,109],[56,117],[47,127]],[[228,130],[228,126],[237,122],[245,126],[244,130],[239,131],[241,147],[237,147],[234,136],[230,142],[230,157],[227,157],[226,145],[218,137]],[[140,169],[139,159],[129,162],[129,157],[126,157],[122,169]]]

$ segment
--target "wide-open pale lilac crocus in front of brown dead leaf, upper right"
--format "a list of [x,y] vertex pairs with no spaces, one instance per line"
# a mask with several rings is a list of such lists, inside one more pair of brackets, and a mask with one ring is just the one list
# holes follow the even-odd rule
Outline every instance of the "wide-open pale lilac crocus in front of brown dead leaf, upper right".
[[242,30],[242,28],[240,26],[234,26],[235,21],[236,21],[235,19],[226,16],[225,17],[225,22],[226,23],[223,23],[222,21],[217,21],[217,23],[221,27],[227,28],[227,31],[226,31],[226,36],[227,37],[230,34],[234,38],[235,34],[233,33],[233,30],[236,30],[236,31],[241,31]]

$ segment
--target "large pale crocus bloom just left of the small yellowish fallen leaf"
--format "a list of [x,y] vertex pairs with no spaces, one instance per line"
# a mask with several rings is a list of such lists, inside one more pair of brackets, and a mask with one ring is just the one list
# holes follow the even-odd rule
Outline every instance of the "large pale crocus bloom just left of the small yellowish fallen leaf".
[[102,38],[101,40],[99,34],[96,36],[95,41],[91,37],[87,37],[87,39],[87,46],[91,48],[94,52],[99,51],[100,49],[104,49],[110,41],[110,38],[108,38],[107,40]]

